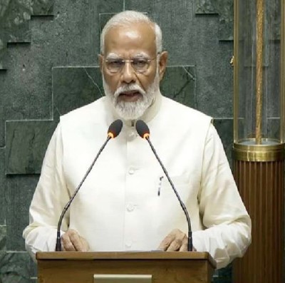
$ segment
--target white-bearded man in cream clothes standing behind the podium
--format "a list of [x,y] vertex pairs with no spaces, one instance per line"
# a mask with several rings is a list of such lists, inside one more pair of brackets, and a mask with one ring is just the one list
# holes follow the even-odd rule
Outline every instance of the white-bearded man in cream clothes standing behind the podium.
[[[115,15],[101,35],[105,97],[63,115],[43,161],[24,230],[26,248],[53,251],[64,205],[103,144],[111,140],[83,183],[61,226],[66,251],[187,250],[187,222],[135,120],[150,139],[190,214],[193,245],[226,266],[251,241],[251,222],[211,118],[160,93],[167,65],[161,30],[144,14]],[[157,192],[160,191],[160,194]]]

